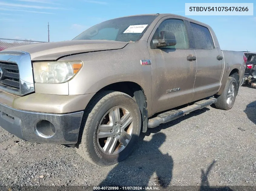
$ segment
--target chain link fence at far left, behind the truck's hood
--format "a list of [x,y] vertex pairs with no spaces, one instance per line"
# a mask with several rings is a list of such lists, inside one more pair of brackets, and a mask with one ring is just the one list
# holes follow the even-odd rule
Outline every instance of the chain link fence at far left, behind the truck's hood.
[[32,44],[32,43],[46,43],[46,42],[0,38],[0,51],[10,47],[21,46],[21,45]]

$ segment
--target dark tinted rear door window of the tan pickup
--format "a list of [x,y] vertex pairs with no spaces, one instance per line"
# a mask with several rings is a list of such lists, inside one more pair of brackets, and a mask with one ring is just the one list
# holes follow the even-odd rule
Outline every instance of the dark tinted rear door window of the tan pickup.
[[190,23],[194,35],[195,49],[213,49],[214,44],[208,28]]

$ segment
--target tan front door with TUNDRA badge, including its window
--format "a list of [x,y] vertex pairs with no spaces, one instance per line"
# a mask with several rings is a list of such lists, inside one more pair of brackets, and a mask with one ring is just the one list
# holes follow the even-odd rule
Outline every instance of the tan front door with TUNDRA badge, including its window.
[[[149,37],[153,113],[189,103],[193,97],[196,61],[187,58],[195,56],[195,52],[190,49],[186,22],[178,17],[161,18]],[[162,30],[175,34],[175,46],[154,48],[152,40],[159,39]]]

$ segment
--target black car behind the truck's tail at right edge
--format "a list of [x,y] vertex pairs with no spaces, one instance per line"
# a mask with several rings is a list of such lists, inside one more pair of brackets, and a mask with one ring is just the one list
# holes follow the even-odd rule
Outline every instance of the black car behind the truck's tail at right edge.
[[256,88],[256,52],[246,52],[246,68],[244,72],[244,81],[242,84],[250,84]]

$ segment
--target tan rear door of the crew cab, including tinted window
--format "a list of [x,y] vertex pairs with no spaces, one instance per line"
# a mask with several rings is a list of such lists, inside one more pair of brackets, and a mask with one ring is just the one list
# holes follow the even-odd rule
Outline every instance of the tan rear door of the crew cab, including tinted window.
[[190,27],[194,37],[193,48],[197,62],[192,99],[195,101],[214,95],[218,91],[224,65],[222,52],[214,44],[213,31],[201,23],[190,22]]

